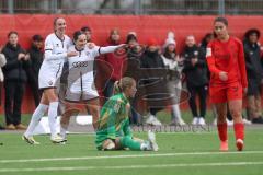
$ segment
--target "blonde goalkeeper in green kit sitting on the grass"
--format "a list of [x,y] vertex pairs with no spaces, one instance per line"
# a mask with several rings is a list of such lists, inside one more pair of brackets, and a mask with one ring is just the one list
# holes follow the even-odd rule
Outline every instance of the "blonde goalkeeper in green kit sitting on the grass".
[[128,98],[134,97],[136,91],[136,81],[133,78],[125,77],[114,83],[115,95],[101,109],[95,138],[98,150],[158,151],[153,132],[148,131],[148,140],[133,137]]

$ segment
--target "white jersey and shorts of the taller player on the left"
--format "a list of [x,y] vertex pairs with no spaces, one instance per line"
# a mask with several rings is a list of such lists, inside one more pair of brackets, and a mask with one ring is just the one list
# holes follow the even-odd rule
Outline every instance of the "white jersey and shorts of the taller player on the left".
[[64,35],[64,39],[60,39],[55,33],[46,37],[44,61],[38,74],[39,89],[56,88],[58,85],[70,45],[71,39],[67,35]]

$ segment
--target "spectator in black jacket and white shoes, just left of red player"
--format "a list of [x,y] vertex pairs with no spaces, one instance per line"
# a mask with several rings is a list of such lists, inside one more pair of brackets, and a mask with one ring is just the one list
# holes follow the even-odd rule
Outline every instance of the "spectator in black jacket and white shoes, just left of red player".
[[[188,35],[185,40],[185,48],[182,56],[184,57],[183,72],[186,77],[186,84],[190,92],[190,108],[194,117],[193,125],[206,125],[206,96],[207,96],[207,68],[205,55],[195,43],[195,37]],[[199,97],[199,115],[197,112],[196,96]]]

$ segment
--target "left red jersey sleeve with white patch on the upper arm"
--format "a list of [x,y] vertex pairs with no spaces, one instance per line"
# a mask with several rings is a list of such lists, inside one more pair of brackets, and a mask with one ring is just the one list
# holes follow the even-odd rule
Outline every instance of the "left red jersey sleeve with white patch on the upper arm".
[[214,46],[214,45],[213,45],[211,42],[207,45],[207,48],[206,48],[206,61],[207,61],[207,66],[208,66],[208,68],[209,68],[209,71],[218,77],[218,75],[219,75],[219,72],[220,72],[221,70],[219,70],[219,69],[216,67],[216,59],[215,59],[213,46]]

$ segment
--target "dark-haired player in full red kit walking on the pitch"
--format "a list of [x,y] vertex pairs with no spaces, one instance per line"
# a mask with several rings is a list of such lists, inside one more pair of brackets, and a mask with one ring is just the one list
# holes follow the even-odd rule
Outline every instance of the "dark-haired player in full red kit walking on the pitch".
[[228,151],[227,105],[233,117],[233,129],[238,151],[243,149],[244,125],[242,122],[242,95],[247,92],[248,80],[242,43],[228,34],[228,21],[214,21],[216,38],[207,46],[207,62],[210,74],[210,101],[218,113],[217,128],[221,151]]

